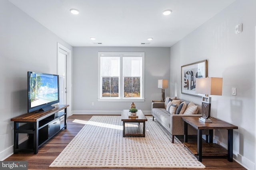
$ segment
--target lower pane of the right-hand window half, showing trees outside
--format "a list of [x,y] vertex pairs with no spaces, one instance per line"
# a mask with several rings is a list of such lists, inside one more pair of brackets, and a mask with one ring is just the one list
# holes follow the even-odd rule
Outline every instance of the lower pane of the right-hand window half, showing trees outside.
[[140,98],[140,77],[124,77],[124,97]]

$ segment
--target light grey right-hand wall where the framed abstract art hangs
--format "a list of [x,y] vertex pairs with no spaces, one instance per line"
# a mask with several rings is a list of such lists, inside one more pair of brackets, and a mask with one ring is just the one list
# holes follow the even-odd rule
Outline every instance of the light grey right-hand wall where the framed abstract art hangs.
[[[211,96],[211,116],[238,126],[234,159],[248,169],[255,165],[255,9],[255,0],[236,0],[170,49],[171,96],[201,102],[181,94],[182,65],[207,59],[208,76],[223,77],[222,96]],[[243,32],[235,34],[238,23],[243,23]],[[227,148],[226,130],[215,131],[214,139]]]

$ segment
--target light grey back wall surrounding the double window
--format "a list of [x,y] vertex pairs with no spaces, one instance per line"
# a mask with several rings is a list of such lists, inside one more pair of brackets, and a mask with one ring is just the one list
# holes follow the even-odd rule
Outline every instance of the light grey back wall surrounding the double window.
[[[131,102],[98,102],[98,52],[145,52],[146,100],[135,104],[144,114],[151,114],[151,100],[161,100],[158,79],[170,77],[170,47],[74,47],[72,113],[120,114],[130,107]],[[169,91],[166,89],[166,96]]]

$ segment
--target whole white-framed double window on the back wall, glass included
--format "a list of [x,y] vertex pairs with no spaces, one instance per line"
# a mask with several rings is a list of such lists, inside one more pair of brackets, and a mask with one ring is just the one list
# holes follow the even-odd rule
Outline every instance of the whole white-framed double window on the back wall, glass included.
[[99,101],[144,101],[144,53],[98,53]]

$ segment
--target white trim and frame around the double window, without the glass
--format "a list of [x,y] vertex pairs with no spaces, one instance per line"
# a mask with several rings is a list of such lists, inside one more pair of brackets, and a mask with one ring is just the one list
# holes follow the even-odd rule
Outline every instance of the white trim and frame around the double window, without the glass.
[[[106,57],[108,56],[119,56],[120,58],[120,63],[122,63],[122,56],[123,55],[140,55],[142,57],[142,97],[141,98],[123,98],[122,95],[119,95],[119,98],[101,98],[101,77],[100,77],[100,57],[104,55]],[[145,84],[144,84],[144,52],[98,52],[98,102],[144,102],[145,101]],[[120,64],[120,70],[122,70],[122,64]],[[122,79],[122,74],[120,75],[120,79]],[[123,82],[120,80],[120,93],[123,93]]]

